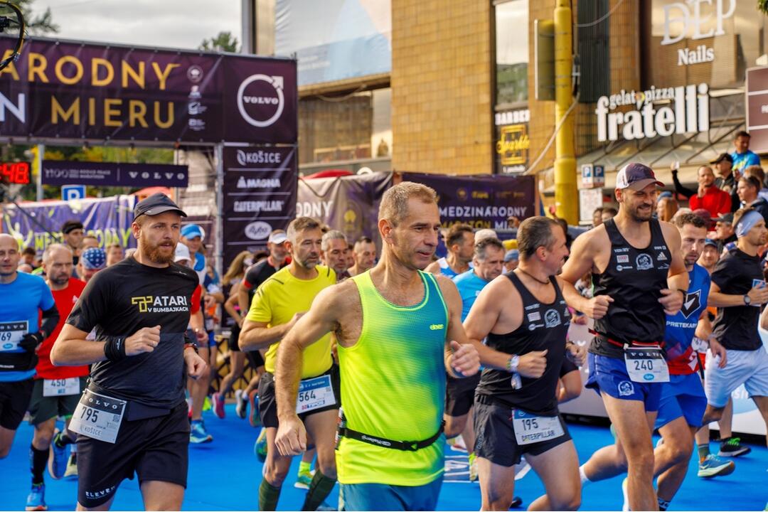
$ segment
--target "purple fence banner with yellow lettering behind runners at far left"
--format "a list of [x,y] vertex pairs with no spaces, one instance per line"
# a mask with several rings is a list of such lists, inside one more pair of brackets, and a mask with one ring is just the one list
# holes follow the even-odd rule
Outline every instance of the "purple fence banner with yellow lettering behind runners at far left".
[[119,243],[124,248],[135,247],[131,232],[134,220],[135,196],[115,196],[104,199],[77,201],[42,201],[21,203],[22,211],[14,206],[2,209],[2,233],[8,233],[42,253],[51,243],[61,242],[61,225],[68,220],[83,223],[85,233],[95,236],[100,247]]

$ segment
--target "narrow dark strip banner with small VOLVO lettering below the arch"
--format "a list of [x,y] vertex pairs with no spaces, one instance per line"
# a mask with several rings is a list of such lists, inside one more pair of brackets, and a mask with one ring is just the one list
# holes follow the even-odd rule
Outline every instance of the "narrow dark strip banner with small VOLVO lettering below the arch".
[[186,165],[43,160],[42,181],[91,187],[187,187],[189,170]]

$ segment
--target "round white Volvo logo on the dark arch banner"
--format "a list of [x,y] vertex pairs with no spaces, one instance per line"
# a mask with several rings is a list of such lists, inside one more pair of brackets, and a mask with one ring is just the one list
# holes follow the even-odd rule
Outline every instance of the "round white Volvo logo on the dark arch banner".
[[268,127],[283,114],[283,77],[252,74],[237,89],[237,109],[257,128]]

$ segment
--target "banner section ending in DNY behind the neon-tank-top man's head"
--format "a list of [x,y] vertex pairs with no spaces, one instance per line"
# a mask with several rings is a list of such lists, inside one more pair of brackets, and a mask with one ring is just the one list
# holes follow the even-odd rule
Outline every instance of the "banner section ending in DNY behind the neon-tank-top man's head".
[[299,180],[296,216],[322,220],[332,230],[344,233],[349,243],[367,236],[380,250],[379,204],[389,187],[392,173]]

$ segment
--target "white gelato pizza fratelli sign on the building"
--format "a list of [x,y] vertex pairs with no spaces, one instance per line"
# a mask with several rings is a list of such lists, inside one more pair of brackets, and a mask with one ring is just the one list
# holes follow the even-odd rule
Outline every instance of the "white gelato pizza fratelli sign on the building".
[[601,142],[707,131],[710,129],[709,86],[622,90],[598,98],[594,113],[598,117]]

